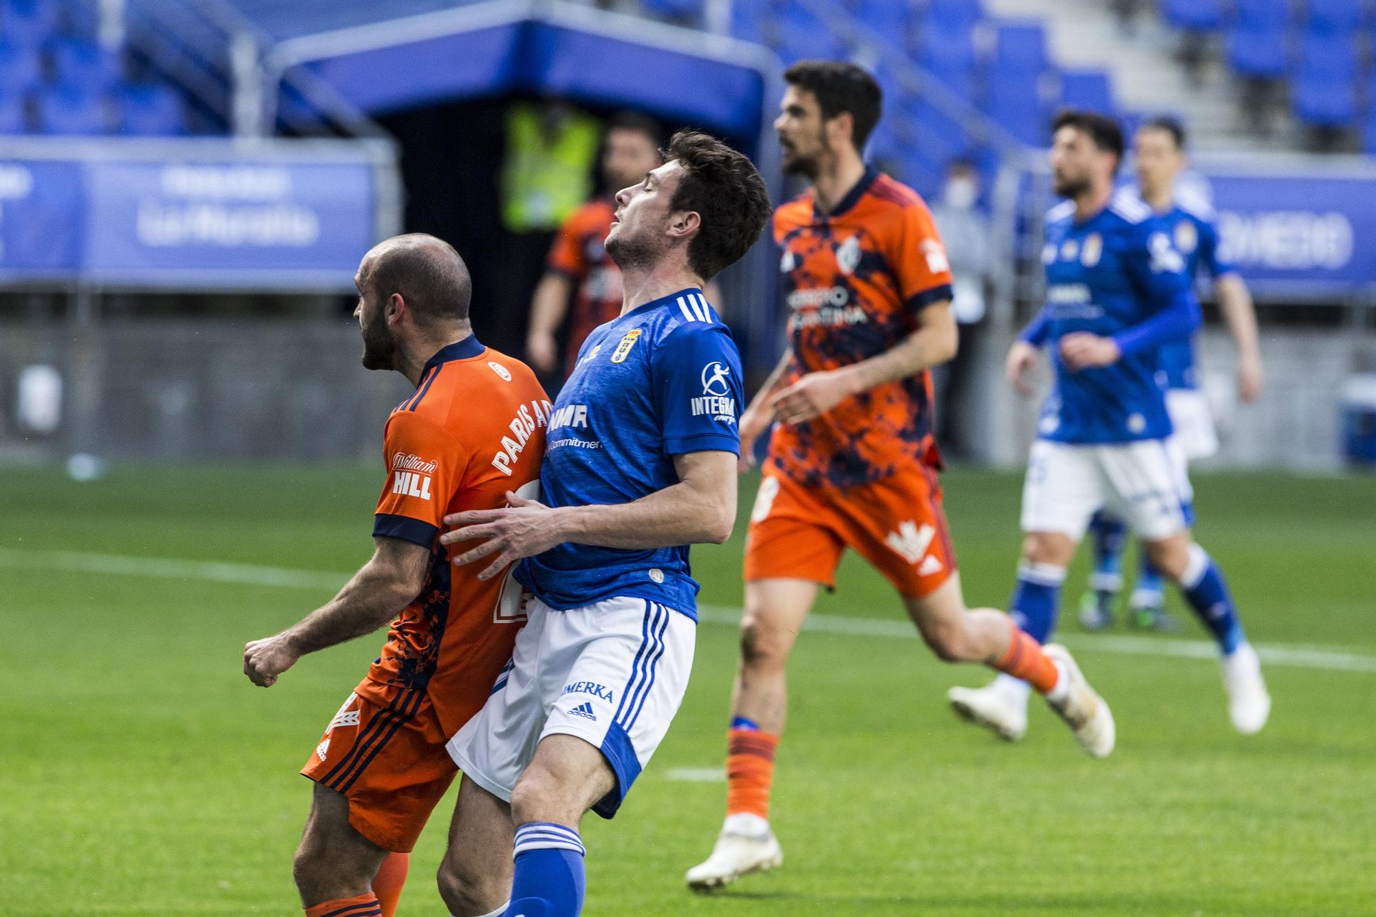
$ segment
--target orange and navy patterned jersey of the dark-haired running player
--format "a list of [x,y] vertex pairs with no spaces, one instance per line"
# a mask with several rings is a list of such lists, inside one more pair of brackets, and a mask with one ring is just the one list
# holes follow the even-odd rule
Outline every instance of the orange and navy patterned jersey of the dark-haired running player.
[[[775,211],[773,233],[788,303],[788,383],[890,350],[916,330],[922,308],[951,299],[927,205],[874,169],[831,213],[817,211],[810,190],[788,201]],[[769,461],[810,487],[849,487],[912,461],[940,465],[932,430],[932,376],[923,370],[809,423],[779,424]]]

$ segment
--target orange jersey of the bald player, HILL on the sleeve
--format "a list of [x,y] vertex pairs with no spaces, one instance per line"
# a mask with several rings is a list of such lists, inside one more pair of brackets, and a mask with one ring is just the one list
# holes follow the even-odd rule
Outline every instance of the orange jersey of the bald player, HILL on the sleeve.
[[550,403],[520,361],[466,337],[425,363],[416,394],[387,419],[387,485],[373,534],[429,548],[425,585],[387,635],[358,694],[387,705],[424,690],[446,735],[476,713],[510,658],[524,622],[522,589],[480,582],[483,563],[455,567],[472,544],[439,544],[447,514],[506,505],[506,492],[534,496]]

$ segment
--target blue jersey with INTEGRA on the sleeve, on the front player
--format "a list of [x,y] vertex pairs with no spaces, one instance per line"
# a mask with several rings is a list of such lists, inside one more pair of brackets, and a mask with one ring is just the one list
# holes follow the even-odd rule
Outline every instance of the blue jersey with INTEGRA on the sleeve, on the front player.
[[[740,454],[742,376],[731,332],[698,289],[594,329],[550,414],[539,475],[544,503],[632,503],[678,483],[673,456]],[[621,551],[561,544],[522,560],[516,578],[552,609],[632,596],[698,617],[688,545]]]

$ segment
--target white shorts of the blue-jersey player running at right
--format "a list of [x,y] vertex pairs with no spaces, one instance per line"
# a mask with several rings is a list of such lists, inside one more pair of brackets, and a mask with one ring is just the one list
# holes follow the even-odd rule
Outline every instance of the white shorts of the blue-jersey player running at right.
[[1022,485],[1022,530],[1079,541],[1102,509],[1149,541],[1190,526],[1190,482],[1172,439],[1076,446],[1038,439]]

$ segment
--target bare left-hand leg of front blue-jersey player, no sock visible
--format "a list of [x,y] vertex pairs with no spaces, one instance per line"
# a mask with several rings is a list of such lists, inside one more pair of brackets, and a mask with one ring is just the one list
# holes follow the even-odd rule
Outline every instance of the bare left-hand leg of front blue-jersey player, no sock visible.
[[497,917],[512,888],[512,810],[466,777],[439,865],[439,896],[454,917]]

